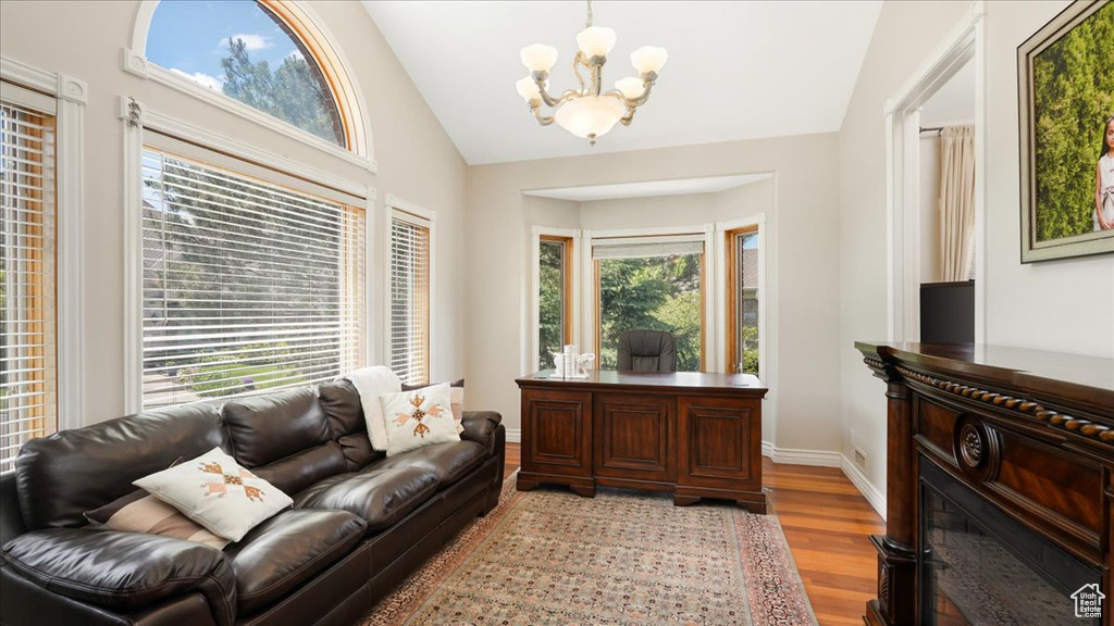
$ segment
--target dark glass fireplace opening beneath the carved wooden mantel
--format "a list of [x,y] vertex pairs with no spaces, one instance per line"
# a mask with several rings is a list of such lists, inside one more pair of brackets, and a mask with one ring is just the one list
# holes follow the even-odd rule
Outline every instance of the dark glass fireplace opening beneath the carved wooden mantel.
[[924,458],[920,546],[925,626],[1102,624],[1101,617],[1077,617],[1081,609],[1087,615],[1087,591],[1101,586],[1097,568],[1025,528]]

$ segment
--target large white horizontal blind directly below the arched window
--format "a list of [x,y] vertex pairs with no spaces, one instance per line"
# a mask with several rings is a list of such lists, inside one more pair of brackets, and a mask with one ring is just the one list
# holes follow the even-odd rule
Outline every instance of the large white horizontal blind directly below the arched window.
[[149,146],[143,185],[144,408],[365,364],[362,208]]

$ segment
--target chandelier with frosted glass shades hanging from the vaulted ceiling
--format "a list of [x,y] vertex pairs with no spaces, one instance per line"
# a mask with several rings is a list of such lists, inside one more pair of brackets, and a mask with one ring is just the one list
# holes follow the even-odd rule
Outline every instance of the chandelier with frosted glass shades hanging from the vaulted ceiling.
[[[596,145],[596,139],[607,134],[616,121],[631,126],[634,111],[649,99],[649,90],[657,80],[667,57],[664,48],[643,46],[631,53],[631,62],[638,71],[638,78],[628,77],[615,82],[615,89],[600,92],[604,63],[607,53],[615,47],[615,31],[592,26],[592,0],[588,0],[588,20],[585,29],[576,36],[579,48],[573,57],[573,74],[579,89],[568,89],[554,98],[546,90],[549,87],[549,70],[557,62],[557,49],[543,43],[522,48],[521,59],[530,75],[515,86],[518,95],[530,106],[534,118],[541,126],[557,123],[557,126],[577,137]],[[584,68],[589,74],[590,85],[580,76]],[[554,115],[541,115],[541,102],[553,107]]]

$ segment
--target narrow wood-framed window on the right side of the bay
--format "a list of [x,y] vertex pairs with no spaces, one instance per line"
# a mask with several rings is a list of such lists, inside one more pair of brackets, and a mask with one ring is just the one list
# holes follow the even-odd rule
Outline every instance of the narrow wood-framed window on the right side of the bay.
[[727,370],[759,373],[759,229],[726,233]]

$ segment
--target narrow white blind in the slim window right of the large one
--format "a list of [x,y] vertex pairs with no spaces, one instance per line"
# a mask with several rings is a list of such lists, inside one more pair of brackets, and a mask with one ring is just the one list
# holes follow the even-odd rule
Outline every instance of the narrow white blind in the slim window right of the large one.
[[407,384],[429,382],[430,228],[391,218],[390,368]]

